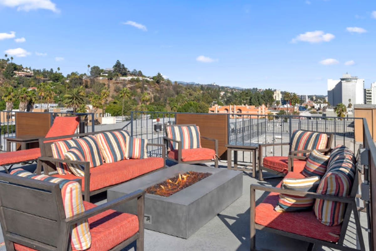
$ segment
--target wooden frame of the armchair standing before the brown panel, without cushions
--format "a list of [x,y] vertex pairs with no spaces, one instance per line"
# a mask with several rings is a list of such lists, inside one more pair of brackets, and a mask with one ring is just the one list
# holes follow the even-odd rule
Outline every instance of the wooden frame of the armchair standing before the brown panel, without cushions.
[[[168,125],[166,126],[166,129],[167,127],[169,126],[196,126],[195,124],[185,124],[185,125]],[[179,141],[179,140],[174,140],[173,138],[168,138],[167,137],[167,131],[165,130],[165,134],[166,134],[166,137],[163,137],[163,140],[165,142],[165,146],[166,148],[168,149],[170,147],[170,141],[173,141],[175,143],[178,144],[178,149],[177,149],[177,160],[174,159],[174,158],[170,158],[168,157],[167,155],[167,159],[168,160],[171,160],[171,161],[174,161],[177,163],[186,163],[186,164],[199,164],[199,163],[207,163],[207,162],[211,162],[213,161],[212,159],[208,159],[208,160],[192,160],[192,161],[182,161],[182,141]],[[209,137],[205,137],[205,136],[202,136],[200,134],[200,138],[203,138],[205,140],[209,140],[209,141],[213,141],[214,142],[214,151],[215,151],[215,158],[214,158],[214,163],[215,163],[215,167],[218,168],[218,140],[215,139],[215,138],[209,138]],[[168,153],[168,150],[167,150],[167,153]]]

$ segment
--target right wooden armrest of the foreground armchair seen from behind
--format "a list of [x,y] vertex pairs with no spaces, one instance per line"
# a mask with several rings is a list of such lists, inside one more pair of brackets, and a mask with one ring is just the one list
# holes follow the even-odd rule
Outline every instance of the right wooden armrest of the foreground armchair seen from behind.
[[64,219],[64,221],[69,225],[73,225],[73,224],[76,224],[76,223],[82,221],[83,219],[88,219],[91,216],[102,213],[102,212],[104,212],[108,209],[111,209],[113,207],[116,207],[117,205],[120,205],[120,204],[122,204],[126,201],[131,201],[132,199],[137,199],[137,204],[142,204],[142,212],[141,212],[141,210],[139,210],[140,207],[138,205],[137,215],[141,215],[142,219],[143,219],[144,218],[144,213],[143,213],[143,211],[144,211],[144,198],[145,198],[145,191],[136,190],[133,193],[121,196],[120,198],[114,199],[113,201],[109,201],[105,204],[102,204],[102,205],[99,205],[97,207],[86,210],[83,213],[80,213],[80,214],[77,214],[75,216],[66,218],[66,219]]

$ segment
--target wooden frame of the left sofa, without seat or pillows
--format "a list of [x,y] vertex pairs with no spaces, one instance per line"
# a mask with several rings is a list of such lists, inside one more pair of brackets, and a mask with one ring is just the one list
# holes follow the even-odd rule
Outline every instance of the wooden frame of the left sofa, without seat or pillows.
[[[101,132],[109,132],[109,131],[115,131],[115,130],[89,132],[89,133],[74,134],[74,135],[68,135],[68,136],[59,136],[59,137],[48,138],[48,140],[49,141],[50,140],[63,140],[63,139],[74,138],[74,137],[85,137],[85,136],[88,136],[88,135],[94,135],[94,134],[99,134]],[[119,184],[115,184],[115,185],[103,187],[103,188],[98,189],[98,190],[90,191],[90,166],[89,166],[89,162],[63,160],[63,159],[53,158],[52,157],[52,149],[51,149],[51,145],[52,145],[53,142],[43,143],[43,141],[45,141],[45,140],[46,140],[46,138],[39,139],[39,145],[41,146],[42,157],[38,158],[38,162],[37,162],[37,165],[36,165],[36,173],[37,174],[41,174],[42,169],[43,169],[43,174],[45,174],[45,175],[49,175],[50,172],[56,172],[56,166],[58,165],[58,163],[68,163],[68,164],[70,163],[70,164],[81,164],[81,165],[83,165],[84,166],[84,180],[85,180],[83,197],[84,197],[85,201],[90,201],[90,196],[92,196],[92,195],[96,195],[97,193],[104,192],[104,191],[110,189],[111,187],[115,187],[115,186],[119,185]],[[166,167],[166,149],[165,149],[165,146],[162,145],[162,144],[147,143],[146,147],[152,147],[152,146],[153,147],[159,147],[159,148],[162,149],[162,158],[163,158],[163,161],[164,161],[164,165],[163,165],[162,168],[165,168]],[[156,169],[152,172],[145,173],[143,175],[137,176],[134,179],[139,178],[139,177],[144,176],[144,175],[147,175],[147,174],[150,174],[150,173],[153,173],[153,172],[156,172],[158,170],[160,170],[160,169]],[[125,182],[127,182],[127,181],[125,181]]]

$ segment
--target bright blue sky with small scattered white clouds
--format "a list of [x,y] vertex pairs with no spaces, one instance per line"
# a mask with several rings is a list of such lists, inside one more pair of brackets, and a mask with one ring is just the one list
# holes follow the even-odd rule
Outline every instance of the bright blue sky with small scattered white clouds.
[[376,81],[374,0],[0,0],[0,16],[2,55],[64,75],[119,59],[172,81],[298,94],[327,94],[347,71]]

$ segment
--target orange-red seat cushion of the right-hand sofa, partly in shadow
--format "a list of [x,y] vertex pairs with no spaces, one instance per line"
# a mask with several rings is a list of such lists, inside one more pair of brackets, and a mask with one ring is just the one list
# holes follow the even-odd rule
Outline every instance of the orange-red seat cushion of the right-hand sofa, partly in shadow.
[[[289,172],[286,178],[305,178],[304,175],[297,172]],[[277,185],[281,186],[282,181]],[[314,214],[314,211],[302,212],[276,212],[279,199],[279,193],[269,193],[255,210],[257,224],[265,227],[275,228],[289,233],[299,234],[319,240],[337,242],[341,232],[341,225],[329,227],[321,224]]]

